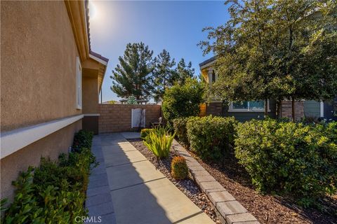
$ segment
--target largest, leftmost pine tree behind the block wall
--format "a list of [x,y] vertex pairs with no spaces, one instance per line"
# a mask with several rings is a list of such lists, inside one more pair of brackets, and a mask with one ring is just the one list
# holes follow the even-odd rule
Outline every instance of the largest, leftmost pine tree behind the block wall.
[[128,43],[124,56],[119,57],[114,71],[111,90],[118,97],[135,96],[136,99],[148,99],[152,92],[153,51],[143,43]]

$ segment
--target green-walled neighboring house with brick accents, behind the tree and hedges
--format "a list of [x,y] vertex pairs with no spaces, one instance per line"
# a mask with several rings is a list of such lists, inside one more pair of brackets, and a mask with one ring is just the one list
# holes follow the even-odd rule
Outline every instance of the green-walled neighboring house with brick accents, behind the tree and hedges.
[[[201,75],[206,83],[211,85],[214,83],[218,75],[213,68],[213,64],[216,62],[216,57],[206,59],[199,64]],[[268,101],[268,116],[270,118],[277,117],[277,105],[274,100]],[[337,104],[337,98],[331,102]],[[333,116],[336,111],[333,108],[331,102],[316,102],[314,100],[302,100],[296,102],[295,116],[296,119],[303,117],[320,118],[336,120],[336,116]],[[234,116],[239,121],[245,121],[250,119],[263,119],[265,111],[265,102],[229,102],[229,104],[222,101],[212,101],[206,105],[206,114],[212,114],[216,116]],[[291,102],[282,101],[280,116],[291,118]]]

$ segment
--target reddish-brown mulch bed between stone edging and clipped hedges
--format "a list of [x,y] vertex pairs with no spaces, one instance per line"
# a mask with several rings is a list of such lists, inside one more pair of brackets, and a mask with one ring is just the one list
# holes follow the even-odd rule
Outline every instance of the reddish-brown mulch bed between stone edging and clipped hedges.
[[335,223],[337,224],[337,195],[326,197],[326,211],[301,209],[293,200],[277,195],[261,195],[254,190],[249,174],[237,164],[234,155],[223,165],[204,162],[190,152],[209,174],[228,190],[260,223]]

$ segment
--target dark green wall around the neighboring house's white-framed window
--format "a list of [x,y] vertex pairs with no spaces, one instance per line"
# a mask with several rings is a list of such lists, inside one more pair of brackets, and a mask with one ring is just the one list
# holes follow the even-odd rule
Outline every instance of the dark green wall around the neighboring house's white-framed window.
[[[269,109],[268,116],[270,118],[276,118],[276,102],[274,100],[270,100],[269,102]],[[256,119],[256,120],[263,120],[265,117],[264,112],[228,112],[229,106],[227,104],[223,105],[223,116],[231,117],[234,116],[235,119],[244,122],[246,120]]]

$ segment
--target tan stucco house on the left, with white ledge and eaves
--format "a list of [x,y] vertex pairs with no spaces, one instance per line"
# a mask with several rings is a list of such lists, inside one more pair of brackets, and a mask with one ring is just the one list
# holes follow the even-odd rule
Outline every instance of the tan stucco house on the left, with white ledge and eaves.
[[1,2],[1,198],[74,132],[98,132],[108,59],[91,50],[88,20],[87,1]]

